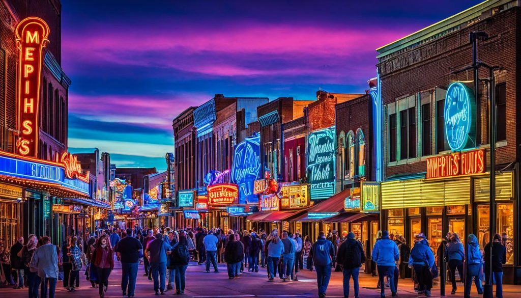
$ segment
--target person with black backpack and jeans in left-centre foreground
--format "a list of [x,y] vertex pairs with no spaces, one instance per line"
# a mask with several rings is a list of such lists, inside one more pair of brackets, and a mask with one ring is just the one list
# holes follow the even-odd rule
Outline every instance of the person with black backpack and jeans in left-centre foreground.
[[190,252],[188,251],[187,234],[179,233],[179,241],[174,244],[170,254],[170,266],[176,272],[176,294],[184,294],[186,284],[185,272],[190,263]]

